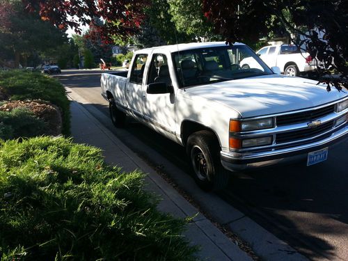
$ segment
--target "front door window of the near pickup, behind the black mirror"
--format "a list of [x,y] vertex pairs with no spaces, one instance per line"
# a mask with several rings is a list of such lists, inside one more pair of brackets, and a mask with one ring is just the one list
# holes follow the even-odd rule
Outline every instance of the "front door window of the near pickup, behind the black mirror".
[[168,61],[164,54],[154,54],[151,59],[148,84],[155,82],[164,82],[167,85],[171,85]]

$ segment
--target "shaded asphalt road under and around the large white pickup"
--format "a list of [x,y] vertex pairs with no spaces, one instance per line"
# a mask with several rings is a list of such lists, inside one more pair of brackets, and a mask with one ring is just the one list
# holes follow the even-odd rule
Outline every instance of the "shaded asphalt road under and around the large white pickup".
[[[93,106],[109,114],[100,95],[100,71],[63,71],[58,78],[88,100],[86,109]],[[189,172],[180,145],[136,122],[126,130]],[[306,167],[302,162],[234,173],[219,196],[311,260],[348,260],[347,156],[345,141],[330,148],[329,159],[322,164]]]

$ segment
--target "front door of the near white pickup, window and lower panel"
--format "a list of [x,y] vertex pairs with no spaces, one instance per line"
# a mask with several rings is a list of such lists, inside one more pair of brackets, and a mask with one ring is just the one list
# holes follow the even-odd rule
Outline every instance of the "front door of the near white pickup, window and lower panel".
[[[172,85],[171,75],[168,67],[168,60],[164,54],[153,54],[148,70],[148,79],[146,84],[165,83]],[[144,115],[158,132],[161,132],[168,138],[175,135],[175,94],[145,94]]]

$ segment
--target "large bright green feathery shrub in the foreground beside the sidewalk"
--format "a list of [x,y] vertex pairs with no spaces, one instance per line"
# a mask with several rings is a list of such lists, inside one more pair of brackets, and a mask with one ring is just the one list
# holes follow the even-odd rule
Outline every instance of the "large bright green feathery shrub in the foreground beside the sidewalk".
[[156,210],[143,175],[97,148],[40,137],[0,143],[1,260],[195,260],[184,221]]

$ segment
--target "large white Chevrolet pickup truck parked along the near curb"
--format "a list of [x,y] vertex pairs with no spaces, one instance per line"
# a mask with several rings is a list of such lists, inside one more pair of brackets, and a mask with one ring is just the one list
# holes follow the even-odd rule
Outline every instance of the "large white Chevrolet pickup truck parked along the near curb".
[[[241,68],[244,58],[258,68]],[[102,95],[116,127],[129,115],[183,145],[211,191],[229,171],[317,164],[347,139],[347,91],[274,71],[240,43],[153,47],[135,52],[123,76],[102,74]]]

